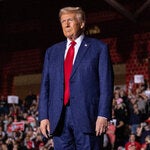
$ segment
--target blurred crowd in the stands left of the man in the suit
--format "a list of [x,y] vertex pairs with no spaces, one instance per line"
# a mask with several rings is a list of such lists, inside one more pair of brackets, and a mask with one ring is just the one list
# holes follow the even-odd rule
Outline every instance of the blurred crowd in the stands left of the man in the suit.
[[18,104],[0,99],[0,150],[47,150],[52,139],[44,138],[39,130],[38,96],[29,93]]

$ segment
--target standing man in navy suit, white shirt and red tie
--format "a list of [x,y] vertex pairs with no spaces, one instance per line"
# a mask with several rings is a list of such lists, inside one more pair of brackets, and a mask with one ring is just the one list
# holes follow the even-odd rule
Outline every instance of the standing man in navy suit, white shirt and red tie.
[[[108,47],[84,35],[85,13],[80,7],[59,12],[66,41],[47,49],[42,74],[39,121],[45,137],[53,135],[55,150],[100,150],[111,117],[113,71]],[[65,100],[67,53],[74,49]]]

